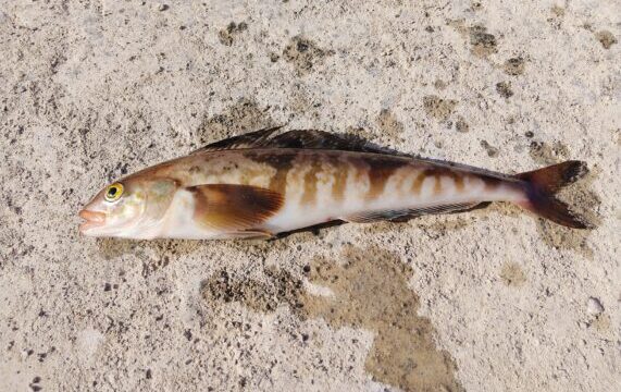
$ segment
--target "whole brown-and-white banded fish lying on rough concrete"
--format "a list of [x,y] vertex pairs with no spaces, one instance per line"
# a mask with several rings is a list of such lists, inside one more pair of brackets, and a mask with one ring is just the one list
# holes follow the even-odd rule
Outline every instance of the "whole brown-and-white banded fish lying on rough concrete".
[[80,211],[85,236],[275,238],[335,222],[402,222],[512,203],[592,228],[555,195],[587,172],[570,160],[509,175],[420,158],[353,135],[263,128],[122,177]]

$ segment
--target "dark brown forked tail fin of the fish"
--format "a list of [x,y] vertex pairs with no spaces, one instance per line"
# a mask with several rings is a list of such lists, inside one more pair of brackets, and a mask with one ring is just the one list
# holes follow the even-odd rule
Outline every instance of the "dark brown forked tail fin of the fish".
[[526,183],[529,199],[522,204],[522,207],[568,228],[593,228],[584,218],[573,213],[567,204],[555,197],[559,189],[575,182],[587,172],[585,162],[566,161],[516,175],[517,179]]

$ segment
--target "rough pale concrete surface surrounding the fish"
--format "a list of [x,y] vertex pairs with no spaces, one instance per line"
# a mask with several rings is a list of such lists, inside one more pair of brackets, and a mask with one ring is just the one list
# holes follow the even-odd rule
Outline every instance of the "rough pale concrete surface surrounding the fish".
[[[619,391],[621,3],[0,2],[1,391]],[[518,207],[272,242],[78,235],[110,180],[268,125],[514,173]]]

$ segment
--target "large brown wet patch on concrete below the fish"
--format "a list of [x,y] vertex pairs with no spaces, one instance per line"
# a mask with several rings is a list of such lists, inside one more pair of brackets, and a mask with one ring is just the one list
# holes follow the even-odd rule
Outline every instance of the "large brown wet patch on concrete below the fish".
[[455,360],[436,347],[435,329],[417,314],[420,299],[408,286],[413,271],[397,254],[349,247],[341,265],[315,258],[303,273],[334,295],[311,295],[302,280],[276,269],[265,270],[264,281],[222,270],[206,280],[201,291],[214,306],[238,302],[269,313],[287,305],[302,320],[321,318],[334,328],[374,331],[364,367],[375,380],[407,391],[463,390],[455,378]]

